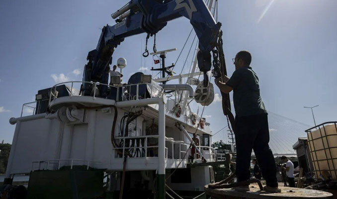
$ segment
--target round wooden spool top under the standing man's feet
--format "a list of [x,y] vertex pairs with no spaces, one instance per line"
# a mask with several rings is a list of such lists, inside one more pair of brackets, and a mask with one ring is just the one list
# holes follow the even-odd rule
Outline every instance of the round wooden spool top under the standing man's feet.
[[279,187],[281,193],[260,191],[257,184],[251,184],[249,192],[233,189],[210,189],[205,186],[206,195],[212,199],[333,199],[333,194],[318,190]]

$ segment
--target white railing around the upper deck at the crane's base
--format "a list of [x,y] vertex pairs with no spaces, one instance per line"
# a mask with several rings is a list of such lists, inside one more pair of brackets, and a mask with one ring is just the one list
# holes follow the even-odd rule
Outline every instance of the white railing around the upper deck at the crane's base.
[[[145,98],[160,98],[164,94],[164,89],[157,88],[149,83],[113,86],[113,85],[108,85],[108,84],[102,84],[99,82],[69,81],[69,82],[63,82],[63,83],[56,84],[51,88],[48,104],[50,104],[52,100],[55,100],[58,98],[57,86],[64,85],[64,84],[69,85],[70,87],[70,98],[72,98],[73,96],[83,96],[84,95],[82,91],[80,91],[78,95],[74,95],[75,93],[74,85],[75,84],[93,85],[92,87],[93,91],[92,91],[92,94],[90,95],[93,97],[93,99],[101,98],[101,97],[98,97],[97,89],[95,89],[97,88],[97,86],[107,86],[108,88],[110,88],[110,91],[114,89],[116,91],[115,94],[113,94],[113,96],[109,95],[107,98],[109,99],[109,97],[111,97],[113,98],[113,100],[116,100],[116,101],[140,100],[140,99],[145,99]],[[144,92],[144,95],[140,95],[139,87],[144,86],[144,85],[146,85],[149,88],[150,92],[148,94],[147,92]]]

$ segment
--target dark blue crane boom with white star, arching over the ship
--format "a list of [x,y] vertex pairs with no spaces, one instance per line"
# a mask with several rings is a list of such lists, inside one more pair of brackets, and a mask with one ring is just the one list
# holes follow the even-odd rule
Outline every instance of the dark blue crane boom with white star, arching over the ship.
[[[124,38],[140,33],[154,35],[167,22],[184,16],[190,20],[199,39],[198,67],[202,72],[211,69],[211,51],[218,44],[221,23],[216,23],[203,0],[131,0],[112,14],[117,24],[102,28],[96,49],[87,56],[85,82],[108,84],[109,65],[114,49]],[[206,74],[206,73],[204,73]],[[207,74],[204,75],[207,78]],[[106,96],[106,86],[100,86],[100,96]],[[90,95],[90,85],[84,84],[84,94]]]

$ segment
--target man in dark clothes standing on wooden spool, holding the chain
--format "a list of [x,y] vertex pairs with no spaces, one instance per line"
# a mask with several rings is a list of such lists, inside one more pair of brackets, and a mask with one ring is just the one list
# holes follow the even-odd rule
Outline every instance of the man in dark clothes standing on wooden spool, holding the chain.
[[[250,179],[252,149],[259,162],[261,173],[266,180],[265,191],[281,192],[276,179],[276,165],[269,148],[269,128],[267,111],[260,96],[258,77],[250,67],[251,53],[240,51],[233,59],[235,71],[232,77],[215,80],[223,93],[234,91],[233,100],[236,112],[235,141],[237,147],[236,175],[238,182]],[[249,191],[249,186],[237,187]]]

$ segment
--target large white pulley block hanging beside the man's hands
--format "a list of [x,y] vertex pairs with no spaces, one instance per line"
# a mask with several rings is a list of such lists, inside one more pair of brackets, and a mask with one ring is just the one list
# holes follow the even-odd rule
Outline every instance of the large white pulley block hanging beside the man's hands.
[[201,105],[209,105],[214,100],[214,87],[212,83],[208,83],[208,87],[204,87],[203,82],[199,83],[195,90],[194,100]]

